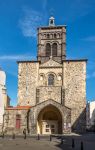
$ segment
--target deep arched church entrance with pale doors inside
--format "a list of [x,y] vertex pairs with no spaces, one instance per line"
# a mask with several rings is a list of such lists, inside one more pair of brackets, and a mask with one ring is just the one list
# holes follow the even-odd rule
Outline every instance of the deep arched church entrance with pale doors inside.
[[59,110],[48,105],[38,115],[37,132],[39,134],[61,134],[62,116]]

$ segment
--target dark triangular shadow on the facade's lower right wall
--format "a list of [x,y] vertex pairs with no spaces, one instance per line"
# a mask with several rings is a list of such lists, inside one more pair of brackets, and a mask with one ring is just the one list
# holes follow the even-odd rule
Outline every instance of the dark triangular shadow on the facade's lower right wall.
[[72,132],[75,133],[86,132],[86,108],[82,111],[78,119],[72,125]]

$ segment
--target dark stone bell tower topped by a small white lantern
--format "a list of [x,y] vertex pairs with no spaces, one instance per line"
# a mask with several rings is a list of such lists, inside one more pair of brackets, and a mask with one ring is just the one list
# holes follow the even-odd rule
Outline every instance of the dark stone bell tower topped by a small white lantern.
[[62,63],[66,59],[66,26],[55,25],[55,18],[49,18],[49,25],[38,28],[37,59],[44,63],[52,57]]

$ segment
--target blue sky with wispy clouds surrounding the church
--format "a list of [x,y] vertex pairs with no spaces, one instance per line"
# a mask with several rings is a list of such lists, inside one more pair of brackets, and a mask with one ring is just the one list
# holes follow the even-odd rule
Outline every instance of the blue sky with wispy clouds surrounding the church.
[[87,100],[95,99],[95,0],[0,0],[0,67],[7,93],[17,102],[17,60],[35,60],[36,28],[67,25],[67,58],[87,58]]

